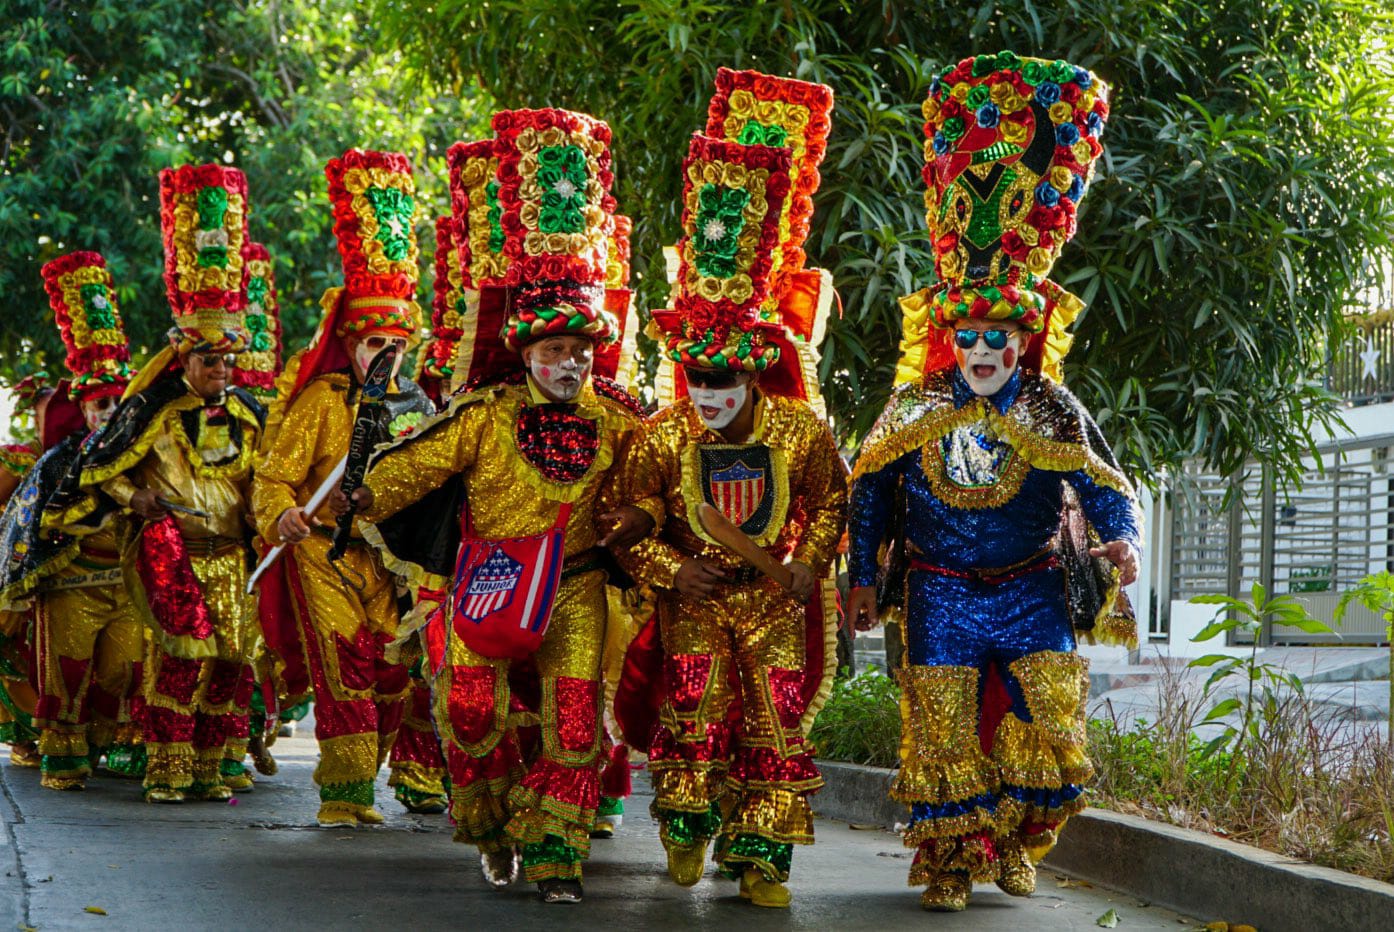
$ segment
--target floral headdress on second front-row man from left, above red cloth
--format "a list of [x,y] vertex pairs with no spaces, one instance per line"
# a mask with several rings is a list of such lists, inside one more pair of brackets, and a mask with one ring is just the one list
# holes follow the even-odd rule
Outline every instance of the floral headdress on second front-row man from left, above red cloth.
[[181,350],[240,352],[247,262],[247,176],[220,164],[160,171],[164,291]]

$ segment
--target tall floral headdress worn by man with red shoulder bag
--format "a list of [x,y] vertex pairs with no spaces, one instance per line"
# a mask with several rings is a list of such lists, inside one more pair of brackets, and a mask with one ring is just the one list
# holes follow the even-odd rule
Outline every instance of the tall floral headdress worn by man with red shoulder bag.
[[[551,334],[612,339],[605,255],[613,228],[609,127],[570,110],[493,114],[513,348]],[[492,224],[491,224],[492,233]]]

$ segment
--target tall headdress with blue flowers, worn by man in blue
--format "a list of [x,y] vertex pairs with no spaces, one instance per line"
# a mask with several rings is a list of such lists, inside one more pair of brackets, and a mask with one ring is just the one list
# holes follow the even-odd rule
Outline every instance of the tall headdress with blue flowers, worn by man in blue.
[[1068,61],[1002,52],[931,82],[924,206],[940,280],[902,301],[902,371],[933,368],[916,359],[933,343],[928,326],[970,318],[1044,333],[1039,365],[1058,369],[1083,302],[1047,276],[1075,235],[1107,118],[1108,86]]

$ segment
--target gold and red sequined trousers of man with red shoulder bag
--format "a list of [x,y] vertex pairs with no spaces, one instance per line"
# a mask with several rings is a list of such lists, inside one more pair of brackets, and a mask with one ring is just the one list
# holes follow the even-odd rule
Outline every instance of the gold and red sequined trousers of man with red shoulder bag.
[[[450,770],[454,840],[496,851],[523,846],[530,883],[580,879],[599,802],[601,652],[605,575],[562,581],[535,655],[539,708],[509,688],[509,660],[485,658],[452,634],[432,680],[436,723]],[[539,726],[526,763],[519,726]]]

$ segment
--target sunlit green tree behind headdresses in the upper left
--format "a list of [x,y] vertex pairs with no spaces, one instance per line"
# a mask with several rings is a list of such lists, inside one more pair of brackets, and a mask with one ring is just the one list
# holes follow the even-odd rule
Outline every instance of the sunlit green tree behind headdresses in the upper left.
[[[39,276],[102,252],[137,354],[163,340],[158,173],[223,162],[248,177],[251,235],[276,262],[290,348],[340,279],[323,164],[350,146],[411,159],[422,252],[449,209],[445,149],[487,125],[480,93],[404,98],[397,61],[351,0],[10,0],[0,18],[0,376],[61,344]],[[481,116],[482,114],[482,116]],[[429,276],[422,280],[429,298]]]

